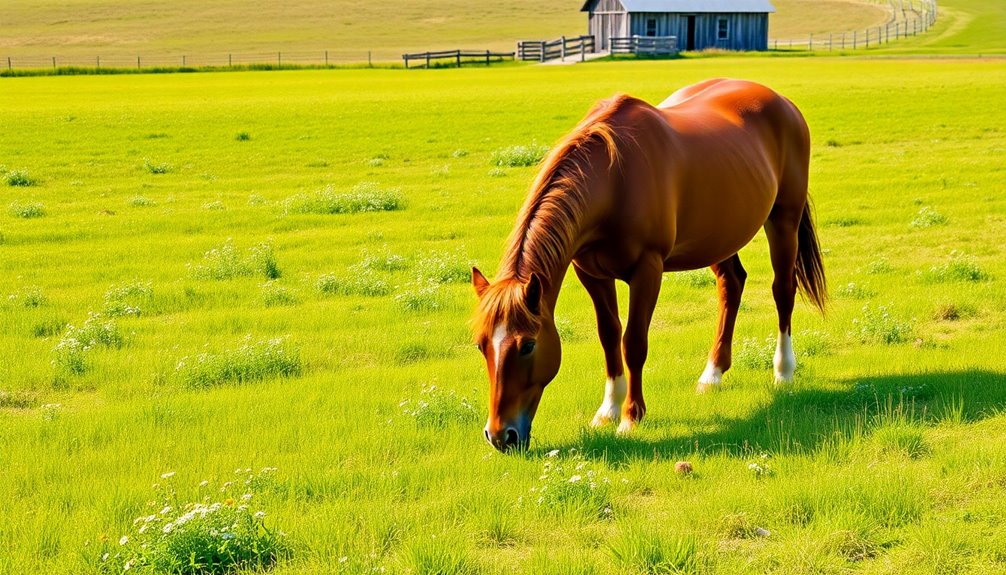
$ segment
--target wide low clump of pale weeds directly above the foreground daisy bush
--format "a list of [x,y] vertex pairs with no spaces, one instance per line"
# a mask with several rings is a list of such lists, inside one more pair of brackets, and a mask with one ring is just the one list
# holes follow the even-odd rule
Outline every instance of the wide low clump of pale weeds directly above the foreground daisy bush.
[[183,357],[175,375],[188,388],[206,389],[225,383],[246,383],[301,374],[300,351],[287,338],[252,341],[218,354]]

